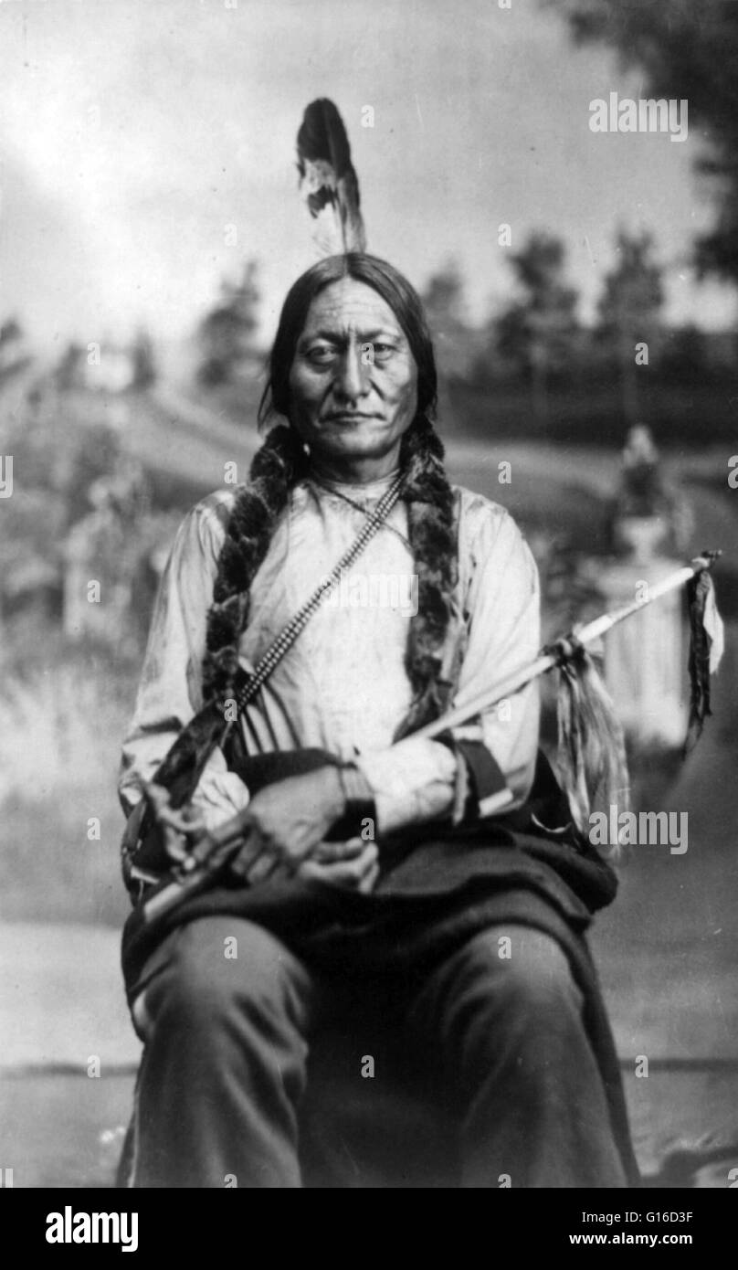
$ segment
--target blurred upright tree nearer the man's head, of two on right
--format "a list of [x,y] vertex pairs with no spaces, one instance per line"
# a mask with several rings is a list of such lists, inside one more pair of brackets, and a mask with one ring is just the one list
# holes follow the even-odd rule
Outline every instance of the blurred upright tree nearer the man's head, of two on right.
[[522,298],[497,324],[499,352],[530,377],[533,413],[544,423],[551,373],[567,366],[577,329],[577,292],[565,284],[564,258],[560,239],[531,234],[522,251],[509,258]]

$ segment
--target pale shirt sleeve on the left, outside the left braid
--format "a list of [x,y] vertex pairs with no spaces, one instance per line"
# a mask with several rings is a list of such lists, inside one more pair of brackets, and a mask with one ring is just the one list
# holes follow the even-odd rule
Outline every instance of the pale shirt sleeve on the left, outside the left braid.
[[[141,782],[154,776],[182,728],[202,705],[201,665],[207,611],[225,527],[217,504],[194,507],[182,522],[154,605],[133,718],[123,740],[118,796],[126,815],[141,800]],[[248,790],[229,772],[217,749],[193,803],[208,826],[248,803]]]

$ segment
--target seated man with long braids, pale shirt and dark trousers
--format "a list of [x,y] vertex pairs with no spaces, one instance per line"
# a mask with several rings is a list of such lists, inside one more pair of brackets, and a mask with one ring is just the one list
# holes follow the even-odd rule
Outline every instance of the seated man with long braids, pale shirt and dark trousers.
[[[249,791],[232,747],[199,779],[211,824],[246,809],[227,878],[159,928],[130,919],[135,1186],[300,1186],[310,1041],[351,997],[404,1038],[418,1076],[432,1055],[461,1185],[634,1176],[580,936],[614,879],[532,814],[535,687],[439,740],[413,737],[539,649],[531,554],[500,507],[448,485],[434,404],[409,283],[370,255],[321,260],[287,296],[271,357],[264,410],[282,425],[252,483],[198,504],[174,544],[123,749],[128,842],[142,781],[203,698],[232,702],[238,668],[254,671],[403,480],[344,601],[316,607],[239,714],[241,759],[281,754],[281,779]],[[368,603],[399,578],[417,611]],[[285,776],[301,752],[318,766]],[[135,851],[128,865],[146,880]]]

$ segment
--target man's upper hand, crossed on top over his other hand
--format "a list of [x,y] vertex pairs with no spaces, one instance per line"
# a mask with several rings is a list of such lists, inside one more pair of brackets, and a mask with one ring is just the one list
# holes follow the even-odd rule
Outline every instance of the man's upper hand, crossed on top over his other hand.
[[249,884],[277,870],[293,875],[319,843],[342,846],[324,838],[344,806],[338,768],[332,766],[267,785],[240,813],[244,842],[231,871]]

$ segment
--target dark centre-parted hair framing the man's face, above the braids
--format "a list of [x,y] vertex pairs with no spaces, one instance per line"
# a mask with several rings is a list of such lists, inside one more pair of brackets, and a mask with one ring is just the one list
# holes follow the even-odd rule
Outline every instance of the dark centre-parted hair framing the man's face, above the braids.
[[438,380],[436,357],[423,304],[415,288],[387,260],[376,255],[349,251],[329,255],[307,269],[287,292],[279,325],[268,362],[268,378],[259,405],[259,424],[273,414],[290,418],[290,371],[297,340],[305,329],[310,305],[333,282],[353,278],[363,282],[382,297],[398,319],[418,368],[417,417],[431,422],[436,415]]

